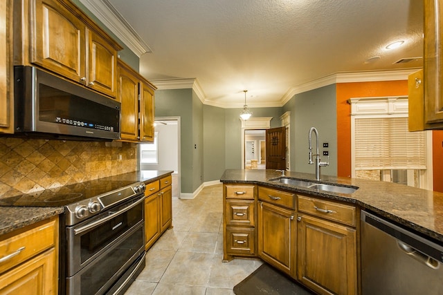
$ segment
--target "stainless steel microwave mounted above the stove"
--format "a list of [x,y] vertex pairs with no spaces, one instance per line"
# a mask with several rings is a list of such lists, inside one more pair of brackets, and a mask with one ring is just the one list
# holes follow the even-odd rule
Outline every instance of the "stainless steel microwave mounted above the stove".
[[120,102],[33,66],[14,68],[15,133],[120,139]]

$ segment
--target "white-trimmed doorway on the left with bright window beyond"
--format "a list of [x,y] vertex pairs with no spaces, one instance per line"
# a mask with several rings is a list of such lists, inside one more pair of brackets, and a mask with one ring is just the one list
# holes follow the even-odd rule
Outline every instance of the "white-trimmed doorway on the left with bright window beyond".
[[138,169],[174,171],[172,197],[180,198],[180,117],[156,117],[154,142],[138,144]]

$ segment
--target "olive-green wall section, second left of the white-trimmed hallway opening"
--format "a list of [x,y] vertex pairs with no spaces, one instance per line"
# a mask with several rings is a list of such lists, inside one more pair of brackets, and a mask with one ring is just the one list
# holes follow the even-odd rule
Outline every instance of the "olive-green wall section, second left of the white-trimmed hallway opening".
[[204,182],[219,180],[224,173],[225,110],[216,106],[203,106]]

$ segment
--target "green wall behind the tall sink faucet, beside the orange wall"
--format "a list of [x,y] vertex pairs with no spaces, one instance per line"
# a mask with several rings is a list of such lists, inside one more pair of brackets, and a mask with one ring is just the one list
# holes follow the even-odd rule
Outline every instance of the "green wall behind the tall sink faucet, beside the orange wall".
[[[294,95],[283,111],[291,111],[291,171],[314,173],[314,165],[308,164],[309,143],[308,135],[311,127],[316,127],[319,135],[320,158],[323,150],[329,151],[329,166],[322,167],[323,175],[337,174],[337,114],[336,114],[336,85],[307,91]],[[329,148],[323,149],[323,142],[329,143]],[[312,137],[313,152],[316,151],[316,140]]]

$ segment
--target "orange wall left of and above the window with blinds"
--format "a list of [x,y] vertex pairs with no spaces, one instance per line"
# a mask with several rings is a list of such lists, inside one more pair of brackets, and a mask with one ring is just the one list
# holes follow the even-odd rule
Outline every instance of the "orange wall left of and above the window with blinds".
[[351,106],[347,99],[396,95],[408,95],[407,80],[336,84],[338,176],[351,177]]

